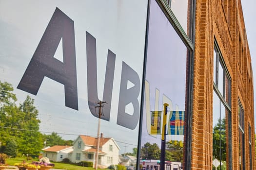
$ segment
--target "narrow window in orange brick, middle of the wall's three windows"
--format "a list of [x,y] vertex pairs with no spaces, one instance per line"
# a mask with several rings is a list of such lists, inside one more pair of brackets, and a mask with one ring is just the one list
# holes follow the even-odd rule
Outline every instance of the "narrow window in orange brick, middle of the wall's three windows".
[[238,129],[239,129],[239,170],[245,170],[245,150],[244,150],[244,110],[242,104],[238,103]]

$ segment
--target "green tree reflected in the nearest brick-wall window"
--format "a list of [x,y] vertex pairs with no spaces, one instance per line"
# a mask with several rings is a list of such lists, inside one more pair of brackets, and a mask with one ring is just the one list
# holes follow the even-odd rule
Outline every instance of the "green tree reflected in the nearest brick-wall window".
[[213,129],[213,159],[226,161],[226,119],[218,119]]

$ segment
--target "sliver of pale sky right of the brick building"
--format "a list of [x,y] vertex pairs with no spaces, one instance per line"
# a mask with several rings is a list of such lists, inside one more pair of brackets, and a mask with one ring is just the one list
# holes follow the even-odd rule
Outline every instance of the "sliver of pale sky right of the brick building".
[[[252,58],[252,68],[254,72],[254,107],[256,107],[256,22],[255,22],[255,0],[241,0],[243,16],[246,27],[246,34],[249,43],[251,58]],[[256,116],[254,117],[256,122]]]

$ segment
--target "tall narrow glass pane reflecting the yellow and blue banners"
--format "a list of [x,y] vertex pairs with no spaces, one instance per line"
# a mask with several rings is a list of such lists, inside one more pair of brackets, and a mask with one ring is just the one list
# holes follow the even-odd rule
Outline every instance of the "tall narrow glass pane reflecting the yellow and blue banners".
[[[141,166],[158,168],[162,127],[167,124],[165,160],[181,167],[187,49],[155,0],[150,4],[147,49]],[[166,122],[163,122],[164,103],[169,104]]]

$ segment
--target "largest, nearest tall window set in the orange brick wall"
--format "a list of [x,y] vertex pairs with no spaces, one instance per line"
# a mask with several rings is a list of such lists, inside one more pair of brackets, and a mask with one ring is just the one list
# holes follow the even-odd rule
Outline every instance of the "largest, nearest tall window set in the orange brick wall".
[[[214,47],[213,168],[232,168],[231,79],[221,53]],[[229,154],[228,154],[229,153]],[[228,155],[227,155],[228,154]],[[228,165],[228,168],[227,168]]]

